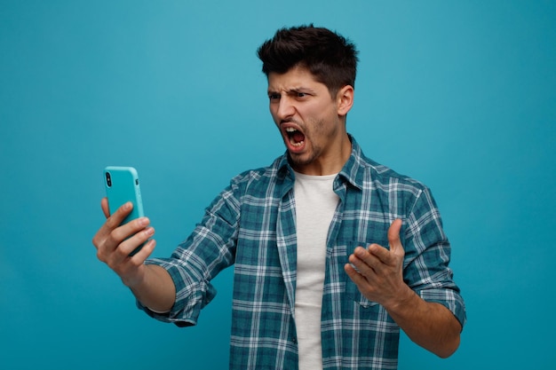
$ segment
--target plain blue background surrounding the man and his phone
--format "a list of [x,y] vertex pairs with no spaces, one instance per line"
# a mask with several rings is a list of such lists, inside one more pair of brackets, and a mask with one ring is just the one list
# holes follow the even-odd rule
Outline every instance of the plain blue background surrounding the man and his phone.
[[139,169],[156,256],[283,145],[255,50],[314,22],[361,51],[348,129],[433,189],[468,325],[446,360],[553,368],[556,3],[0,1],[0,367],[226,368],[231,274],[159,323],[96,258],[102,169]]

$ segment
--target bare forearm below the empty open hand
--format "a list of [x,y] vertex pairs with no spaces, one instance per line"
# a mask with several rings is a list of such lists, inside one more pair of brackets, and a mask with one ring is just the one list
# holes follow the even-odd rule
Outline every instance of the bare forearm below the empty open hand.
[[406,335],[426,350],[441,358],[457,350],[462,327],[441,303],[426,302],[407,287],[401,300],[385,308]]

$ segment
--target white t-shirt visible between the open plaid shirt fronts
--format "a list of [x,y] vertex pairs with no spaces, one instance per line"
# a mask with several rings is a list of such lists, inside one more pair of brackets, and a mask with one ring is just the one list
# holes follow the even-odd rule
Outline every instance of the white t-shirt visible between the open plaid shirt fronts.
[[299,370],[322,369],[321,309],[326,240],[339,201],[333,191],[334,178],[336,175],[309,176],[296,172],[298,268],[295,320]]

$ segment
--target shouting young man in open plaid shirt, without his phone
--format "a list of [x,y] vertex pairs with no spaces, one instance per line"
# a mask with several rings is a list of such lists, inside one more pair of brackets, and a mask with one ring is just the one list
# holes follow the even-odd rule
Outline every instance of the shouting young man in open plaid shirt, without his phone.
[[230,368],[393,369],[400,328],[438,356],[457,350],[465,305],[431,193],[346,132],[356,53],[313,26],[260,46],[287,151],[234,177],[170,258],[147,260],[148,219],[119,226],[131,206],[109,216],[102,201],[99,259],[157,319],[195,325],[234,264]]

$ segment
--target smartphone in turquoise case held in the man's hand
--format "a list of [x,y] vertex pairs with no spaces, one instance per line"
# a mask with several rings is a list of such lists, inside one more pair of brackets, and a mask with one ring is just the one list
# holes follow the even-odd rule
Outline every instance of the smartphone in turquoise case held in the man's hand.
[[[108,166],[104,169],[104,184],[106,186],[108,198],[108,210],[110,215],[123,206],[124,203],[131,201],[133,209],[131,213],[123,219],[122,224],[127,224],[131,220],[144,216],[143,201],[141,200],[141,189],[139,187],[139,174],[133,167]],[[142,245],[133,250],[130,256],[139,252]]]

